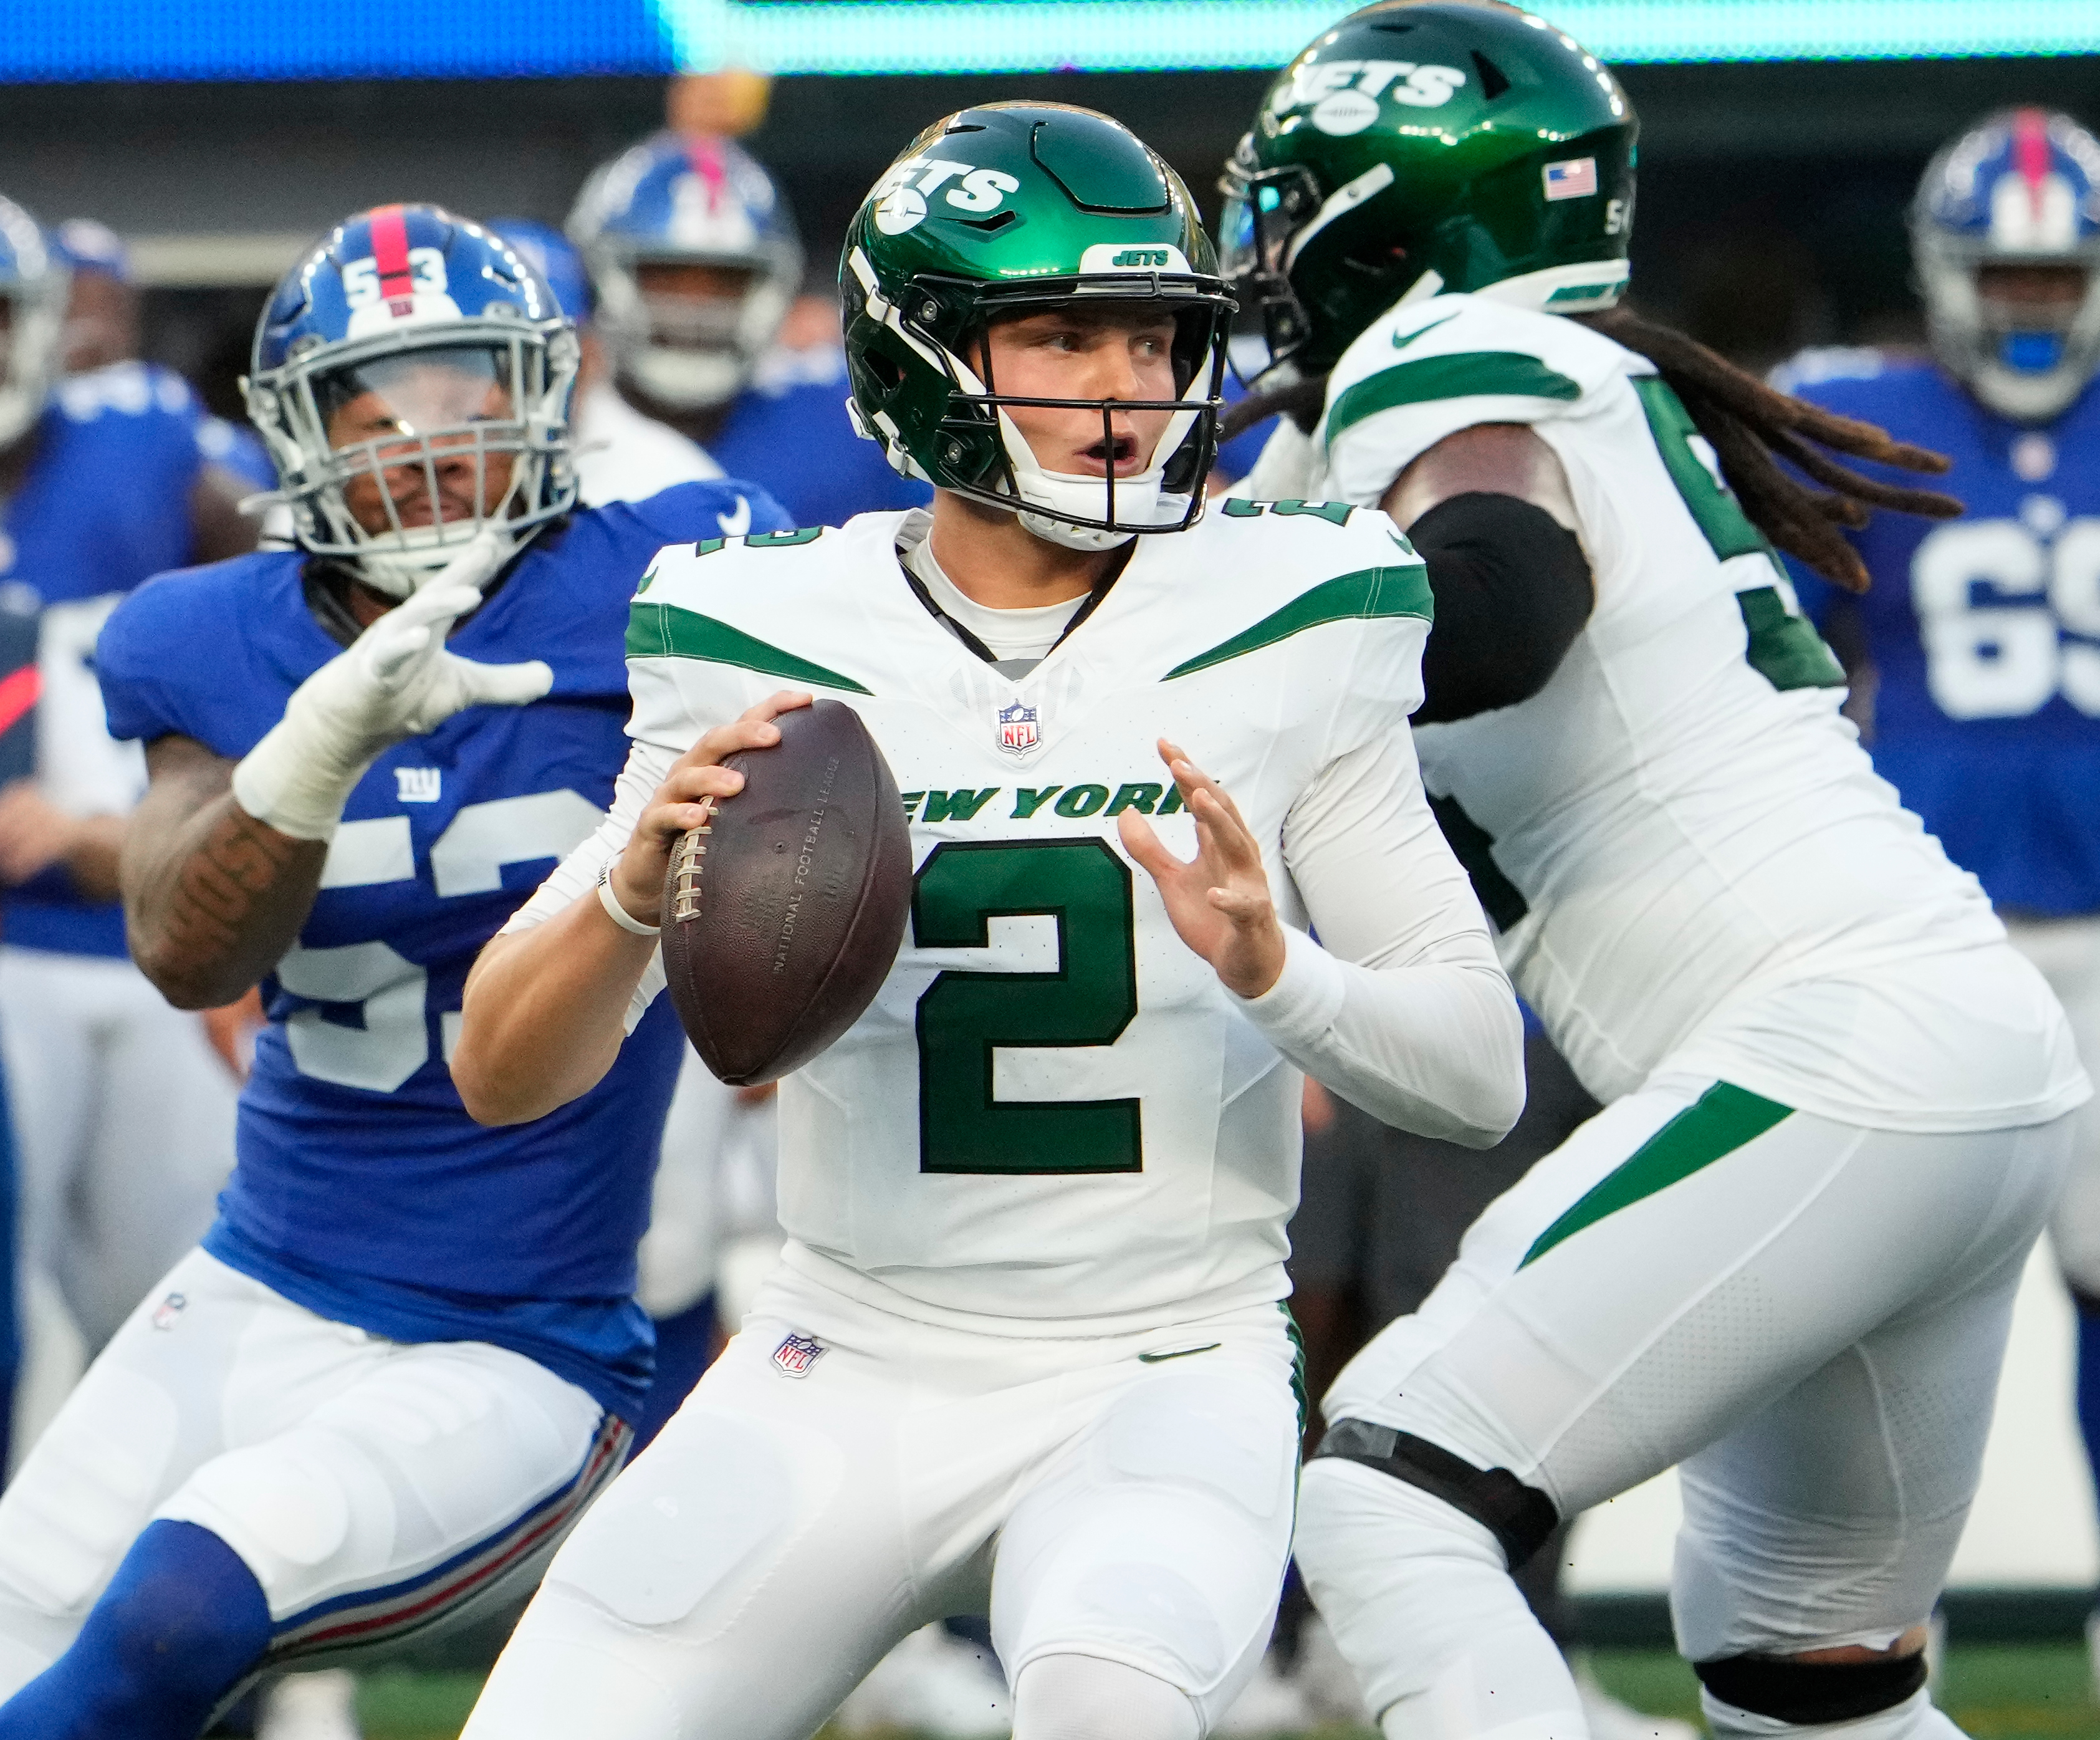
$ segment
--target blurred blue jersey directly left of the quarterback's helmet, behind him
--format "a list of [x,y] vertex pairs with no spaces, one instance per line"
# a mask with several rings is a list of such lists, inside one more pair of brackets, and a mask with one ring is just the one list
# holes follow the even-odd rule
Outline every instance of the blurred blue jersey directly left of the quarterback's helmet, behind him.
[[899,477],[882,448],[846,422],[846,353],[773,351],[708,441],[731,477],[756,477],[796,525],[844,525],[857,513],[926,506],[932,488]]

